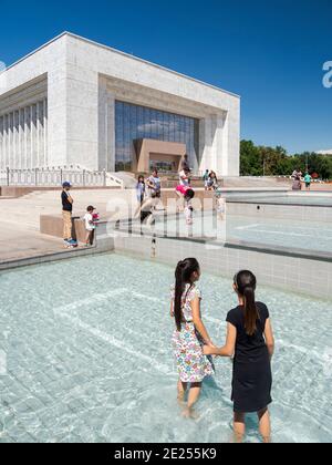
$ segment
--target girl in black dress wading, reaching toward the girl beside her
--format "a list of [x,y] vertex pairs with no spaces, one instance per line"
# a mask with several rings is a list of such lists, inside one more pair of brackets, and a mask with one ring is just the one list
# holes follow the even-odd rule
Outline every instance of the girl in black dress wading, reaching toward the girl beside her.
[[268,405],[272,402],[271,358],[274,339],[269,310],[256,302],[257,280],[251,271],[240,271],[234,280],[239,306],[227,316],[227,342],[222,349],[206,347],[206,355],[235,356],[232,376],[234,431],[242,442],[246,413],[257,412],[264,443],[271,441]]

